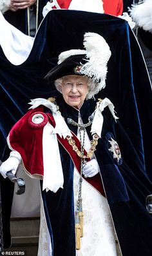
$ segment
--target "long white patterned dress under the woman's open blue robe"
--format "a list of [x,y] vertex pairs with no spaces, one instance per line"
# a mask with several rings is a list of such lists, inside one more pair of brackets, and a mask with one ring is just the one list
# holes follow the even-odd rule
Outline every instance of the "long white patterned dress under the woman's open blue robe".
[[[77,137],[80,137],[79,133],[78,129]],[[83,137],[82,130],[81,137]],[[86,131],[84,148],[87,152],[90,150],[90,140]],[[77,207],[79,178],[80,174],[74,168],[75,208]],[[117,256],[115,232],[108,201],[85,179],[82,181],[82,208],[84,236],[81,238],[81,250],[76,251],[76,256]]]

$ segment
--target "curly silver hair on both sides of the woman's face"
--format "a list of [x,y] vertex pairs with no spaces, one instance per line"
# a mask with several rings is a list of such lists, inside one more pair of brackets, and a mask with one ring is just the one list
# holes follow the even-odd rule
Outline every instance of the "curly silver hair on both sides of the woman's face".
[[[92,97],[94,97],[95,94],[97,94],[99,92],[99,90],[97,90],[98,83],[96,83],[95,81],[93,81],[89,77],[87,77],[87,78],[88,78],[88,81],[87,81],[87,83],[88,83],[88,94],[86,95],[86,100],[91,99]],[[62,79],[63,79],[63,77],[55,80],[55,82],[54,82],[55,87],[57,88],[57,90],[59,92],[61,92],[61,94],[62,94],[62,91],[61,91]]]

